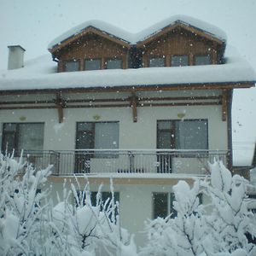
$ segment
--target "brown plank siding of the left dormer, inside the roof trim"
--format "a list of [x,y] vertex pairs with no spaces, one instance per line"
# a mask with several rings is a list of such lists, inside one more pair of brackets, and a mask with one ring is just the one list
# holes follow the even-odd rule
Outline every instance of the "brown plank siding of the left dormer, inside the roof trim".
[[84,70],[85,59],[100,59],[102,69],[105,68],[107,59],[121,59],[123,68],[127,68],[128,49],[124,46],[115,44],[112,41],[94,34],[86,34],[72,44],[68,44],[63,49],[55,53],[59,59],[58,72],[65,71],[65,61],[79,61],[79,70]]

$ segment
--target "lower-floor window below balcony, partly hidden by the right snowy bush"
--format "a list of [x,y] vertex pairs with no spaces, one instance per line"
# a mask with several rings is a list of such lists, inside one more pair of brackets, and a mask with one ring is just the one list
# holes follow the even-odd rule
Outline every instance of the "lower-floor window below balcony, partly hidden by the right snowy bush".
[[[202,194],[197,195],[199,204],[202,204]],[[153,218],[166,218],[171,215],[171,218],[177,217],[177,211],[174,209],[173,202],[175,201],[174,193],[153,193]]]

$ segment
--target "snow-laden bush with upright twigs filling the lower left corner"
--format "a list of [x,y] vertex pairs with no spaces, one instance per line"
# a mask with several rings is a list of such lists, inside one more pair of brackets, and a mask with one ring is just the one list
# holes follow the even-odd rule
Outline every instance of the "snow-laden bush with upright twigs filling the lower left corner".
[[66,189],[64,184],[54,205],[44,186],[50,168],[36,171],[23,164],[22,157],[16,161],[0,154],[0,255],[92,256],[99,248],[104,255],[137,255],[133,240],[120,226],[113,186],[107,202],[99,190],[92,206],[88,183],[79,188],[79,195],[74,185]]

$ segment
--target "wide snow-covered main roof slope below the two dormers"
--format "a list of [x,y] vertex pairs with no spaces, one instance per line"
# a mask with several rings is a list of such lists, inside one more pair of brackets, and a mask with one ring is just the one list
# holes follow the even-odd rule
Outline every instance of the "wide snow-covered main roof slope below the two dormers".
[[237,56],[227,56],[227,63],[221,65],[56,73],[56,63],[50,55],[45,55],[26,61],[25,67],[0,71],[0,90],[206,84],[255,80],[256,74],[252,67]]

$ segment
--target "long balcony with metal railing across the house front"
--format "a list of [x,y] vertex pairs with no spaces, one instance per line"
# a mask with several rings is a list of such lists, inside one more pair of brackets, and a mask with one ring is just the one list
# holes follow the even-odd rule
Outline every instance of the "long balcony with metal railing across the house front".
[[227,150],[177,149],[77,149],[62,151],[26,151],[27,162],[40,169],[53,165],[55,176],[126,173],[208,174],[208,161],[223,160]]

